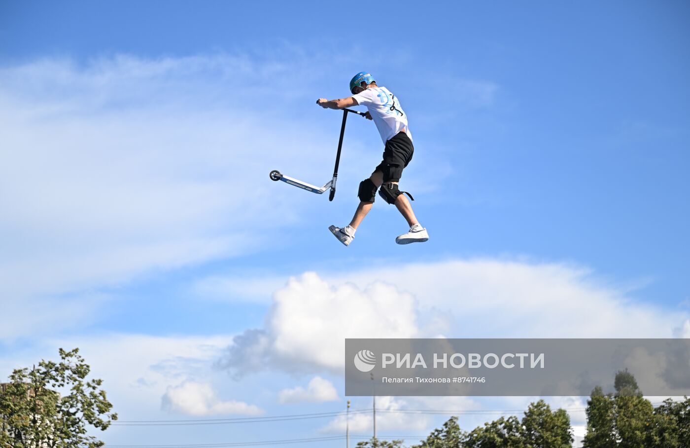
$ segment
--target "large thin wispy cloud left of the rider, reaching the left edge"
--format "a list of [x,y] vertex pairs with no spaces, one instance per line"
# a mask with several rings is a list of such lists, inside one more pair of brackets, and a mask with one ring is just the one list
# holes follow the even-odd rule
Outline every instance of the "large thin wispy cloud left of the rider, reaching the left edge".
[[267,174],[283,162],[313,175],[321,136],[264,104],[290,101],[294,68],[242,55],[0,68],[0,284],[10,307],[37,309],[0,338],[51,327],[70,303],[57,296],[256,251],[297,222],[306,195],[284,200]]

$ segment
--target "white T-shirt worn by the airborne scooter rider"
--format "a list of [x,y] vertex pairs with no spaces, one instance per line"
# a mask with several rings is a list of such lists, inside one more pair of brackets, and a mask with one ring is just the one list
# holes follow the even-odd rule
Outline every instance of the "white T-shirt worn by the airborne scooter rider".
[[400,101],[385,87],[370,87],[352,96],[359,106],[366,106],[384,144],[401,130],[410,140],[412,134],[407,126],[407,114],[400,107]]

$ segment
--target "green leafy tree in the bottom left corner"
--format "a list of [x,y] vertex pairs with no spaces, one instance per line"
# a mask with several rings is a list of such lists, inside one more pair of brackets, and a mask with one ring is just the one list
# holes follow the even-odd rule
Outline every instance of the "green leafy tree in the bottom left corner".
[[[79,349],[60,349],[60,362],[15,369],[0,391],[0,446],[3,448],[97,448],[87,425],[105,430],[117,414],[102,380],[86,380],[90,367]],[[57,389],[65,390],[61,395]]]

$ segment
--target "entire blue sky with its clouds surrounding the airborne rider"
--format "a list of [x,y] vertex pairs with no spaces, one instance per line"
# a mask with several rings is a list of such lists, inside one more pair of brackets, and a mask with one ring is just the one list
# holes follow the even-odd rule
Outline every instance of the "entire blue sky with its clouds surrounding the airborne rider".
[[[344,335],[687,337],[689,16],[682,1],[1,2],[0,282],[21,315],[3,317],[1,376],[72,344],[124,420],[270,416],[344,408],[317,356]],[[340,115],[314,102],[360,70],[408,113],[401,185],[428,243],[396,246],[406,226],[381,201],[350,247],[327,231],[379,162],[369,121],[348,119],[334,202],[268,180],[328,180]],[[382,297],[401,303],[390,320]],[[362,309],[389,325],[345,323]],[[228,376],[256,355],[236,335],[266,338],[265,369]],[[336,400],[280,401],[315,377]],[[396,418],[388,434],[410,427]],[[103,438],[337,434],[329,421]]]

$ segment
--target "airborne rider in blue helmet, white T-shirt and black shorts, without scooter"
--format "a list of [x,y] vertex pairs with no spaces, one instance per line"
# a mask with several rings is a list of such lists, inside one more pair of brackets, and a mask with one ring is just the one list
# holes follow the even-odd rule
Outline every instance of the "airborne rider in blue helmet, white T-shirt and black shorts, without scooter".
[[[414,153],[412,135],[407,125],[407,115],[400,107],[400,101],[385,87],[376,85],[373,77],[366,72],[359,72],[350,81],[350,91],[353,96],[342,99],[319,98],[316,104],[322,108],[342,109],[350,106],[366,106],[368,112],[365,117],[373,119],[376,128],[381,134],[385,146],[383,161],[378,164],[368,179],[359,182],[359,206],[355,216],[347,226],[340,228],[328,227],[333,235],[349,246],[355,239],[355,231],[362,223],[364,217],[371,210],[376,198],[376,190],[379,195],[388,202],[395,204],[410,226],[410,231],[395,238],[397,244],[413,242],[425,242],[429,239],[426,228],[417,221],[412,211],[410,202],[405,194],[414,200],[410,193],[400,191],[397,184],[400,182],[402,170],[410,163]],[[380,188],[379,188],[380,187]],[[404,194],[403,194],[404,193]]]

